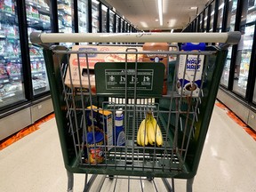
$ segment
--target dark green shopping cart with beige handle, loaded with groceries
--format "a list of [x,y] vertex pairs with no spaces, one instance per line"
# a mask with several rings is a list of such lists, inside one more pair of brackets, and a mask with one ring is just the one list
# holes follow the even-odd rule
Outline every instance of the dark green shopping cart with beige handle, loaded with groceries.
[[[161,178],[168,191],[174,191],[174,179],[184,179],[187,180],[187,191],[192,191],[227,47],[239,41],[239,32],[32,33],[30,38],[32,43],[44,47],[60,145],[68,172],[68,191],[73,190],[73,173],[85,173],[84,191],[90,190],[97,175],[105,175],[109,180],[116,176],[143,177],[148,182]],[[74,51],[53,44],[60,42],[94,45],[87,44]],[[95,49],[95,43],[108,43],[104,46],[113,47],[111,42],[125,47],[124,51],[109,51],[111,49],[106,47]],[[218,43],[219,46],[209,45],[206,51],[200,52],[161,52],[168,59],[172,58],[166,70],[161,63],[140,61],[141,55],[159,54],[156,51],[141,51],[138,43],[145,42],[205,42]],[[115,61],[112,58],[110,61],[99,61],[100,55],[105,59],[115,55],[114,59],[124,60]],[[193,72],[194,77],[190,77],[190,89],[187,91],[185,81],[179,79],[179,66],[182,57],[188,60],[191,55],[196,60],[202,60],[204,56],[200,72],[202,83],[195,83],[196,73],[199,73],[197,62],[194,63],[197,69]],[[91,59],[99,61],[94,68],[90,66]],[[184,79],[188,76],[188,68],[181,70]],[[164,73],[167,73],[168,92],[162,95]],[[191,88],[195,84],[196,89]],[[117,111],[121,111],[124,117],[124,145],[113,141],[116,140]],[[156,142],[139,145],[137,142],[140,123],[148,113],[153,114],[161,129],[163,145],[158,146]],[[90,180],[88,174],[92,174]],[[172,186],[168,178],[172,180]],[[103,182],[99,188],[102,188]]]

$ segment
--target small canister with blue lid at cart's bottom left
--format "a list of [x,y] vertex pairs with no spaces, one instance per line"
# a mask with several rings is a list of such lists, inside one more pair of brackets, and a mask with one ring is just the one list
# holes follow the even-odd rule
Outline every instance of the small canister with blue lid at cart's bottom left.
[[84,137],[84,162],[100,164],[104,161],[104,135],[101,132],[87,132]]

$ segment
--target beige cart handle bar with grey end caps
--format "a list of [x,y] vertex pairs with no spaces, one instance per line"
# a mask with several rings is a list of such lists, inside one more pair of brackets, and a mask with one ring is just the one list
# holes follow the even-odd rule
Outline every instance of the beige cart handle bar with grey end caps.
[[239,31],[227,33],[38,33],[32,32],[33,44],[50,43],[224,43],[237,44]]

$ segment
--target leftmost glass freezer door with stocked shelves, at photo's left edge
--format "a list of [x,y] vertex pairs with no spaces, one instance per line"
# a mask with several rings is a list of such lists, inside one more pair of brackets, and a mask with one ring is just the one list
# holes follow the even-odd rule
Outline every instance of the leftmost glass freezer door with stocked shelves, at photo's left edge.
[[16,3],[0,1],[0,108],[25,100]]

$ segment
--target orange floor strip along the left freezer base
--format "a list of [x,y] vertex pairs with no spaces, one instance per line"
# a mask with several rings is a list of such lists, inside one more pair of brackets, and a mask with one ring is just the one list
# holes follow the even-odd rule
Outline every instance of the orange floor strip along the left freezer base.
[[46,121],[49,121],[52,119],[55,115],[51,114],[49,116],[45,116],[44,118],[38,120],[35,124],[31,124],[28,127],[25,127],[24,129],[20,130],[19,132],[14,133],[12,136],[0,140],[0,150],[12,145],[12,143],[16,142],[17,140],[22,139],[23,137],[27,136],[31,132],[36,132],[36,130],[39,129],[39,126],[43,124]]

